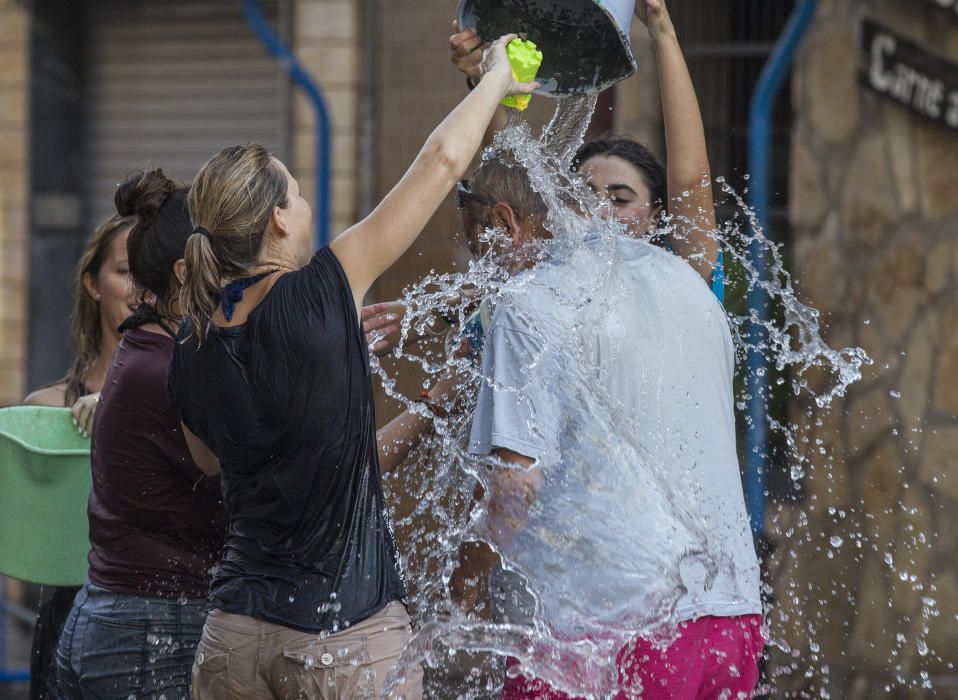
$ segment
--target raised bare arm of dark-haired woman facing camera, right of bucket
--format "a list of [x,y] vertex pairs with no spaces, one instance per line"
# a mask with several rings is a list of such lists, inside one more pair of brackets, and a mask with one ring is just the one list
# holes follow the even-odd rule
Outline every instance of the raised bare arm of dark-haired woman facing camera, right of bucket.
[[705,127],[692,77],[665,0],[638,0],[636,16],[649,28],[659,71],[665,122],[669,213],[676,232],[672,249],[711,283],[718,258],[715,205]]

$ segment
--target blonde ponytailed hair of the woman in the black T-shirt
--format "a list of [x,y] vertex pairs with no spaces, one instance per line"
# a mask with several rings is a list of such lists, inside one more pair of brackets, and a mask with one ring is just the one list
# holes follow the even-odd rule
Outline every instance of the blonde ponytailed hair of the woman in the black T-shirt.
[[255,264],[273,210],[289,206],[289,181],[259,144],[231,146],[200,168],[187,201],[193,224],[205,231],[186,243],[183,305],[202,342],[220,285]]

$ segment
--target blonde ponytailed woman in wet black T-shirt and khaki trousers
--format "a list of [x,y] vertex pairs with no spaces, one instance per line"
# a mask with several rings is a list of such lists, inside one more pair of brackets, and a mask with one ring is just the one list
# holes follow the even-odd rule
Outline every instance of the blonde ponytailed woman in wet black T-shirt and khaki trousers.
[[[228,148],[194,180],[170,391],[197,463],[222,469],[230,512],[197,700],[383,695],[411,630],[380,469],[425,419],[400,417],[377,440],[359,308],[465,172],[499,101],[534,89],[512,76],[512,38],[379,206],[315,254],[298,183],[261,147]],[[421,674],[404,671],[393,690],[412,700]]]

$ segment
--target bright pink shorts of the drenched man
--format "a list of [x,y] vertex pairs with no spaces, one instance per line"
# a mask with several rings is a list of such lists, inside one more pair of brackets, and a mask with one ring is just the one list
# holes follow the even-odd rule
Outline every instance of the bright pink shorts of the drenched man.
[[[679,625],[665,649],[636,639],[616,659],[616,700],[712,700],[750,698],[765,647],[760,615],[701,617]],[[518,663],[515,659],[510,665]],[[538,678],[507,674],[503,700],[573,700]]]

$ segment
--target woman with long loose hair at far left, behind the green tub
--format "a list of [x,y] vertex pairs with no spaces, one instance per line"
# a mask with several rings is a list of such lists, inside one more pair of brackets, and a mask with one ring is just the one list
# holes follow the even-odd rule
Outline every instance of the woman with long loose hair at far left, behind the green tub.
[[[28,406],[68,406],[77,429],[89,433],[110,358],[120,342],[118,328],[135,307],[126,239],[133,219],[119,215],[103,222],[83,250],[76,267],[70,335],[76,357],[59,382],[24,399]],[[30,698],[47,697],[55,676],[54,655],[60,630],[70,614],[74,586],[45,588],[30,650]]]

